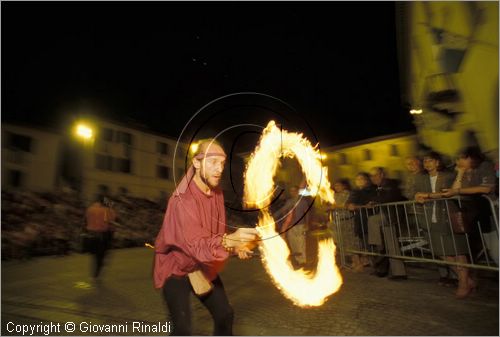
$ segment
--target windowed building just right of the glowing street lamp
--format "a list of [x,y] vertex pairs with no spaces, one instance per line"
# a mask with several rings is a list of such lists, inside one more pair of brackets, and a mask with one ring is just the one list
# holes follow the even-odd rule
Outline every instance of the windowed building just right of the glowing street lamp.
[[104,193],[166,201],[184,175],[186,145],[113,121],[94,120],[89,125],[92,139],[73,140],[82,158],[84,198]]

